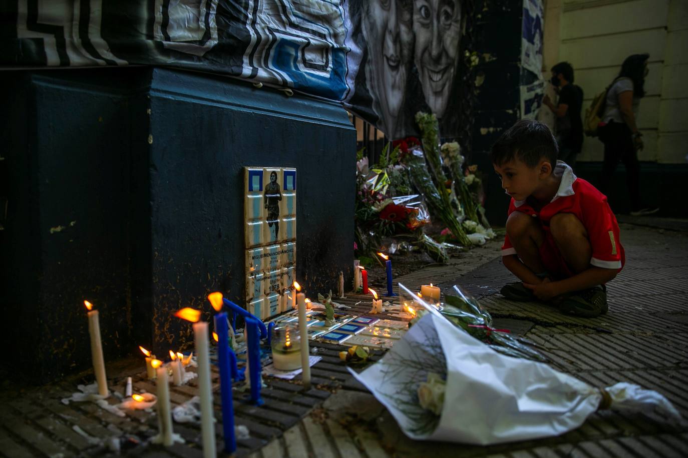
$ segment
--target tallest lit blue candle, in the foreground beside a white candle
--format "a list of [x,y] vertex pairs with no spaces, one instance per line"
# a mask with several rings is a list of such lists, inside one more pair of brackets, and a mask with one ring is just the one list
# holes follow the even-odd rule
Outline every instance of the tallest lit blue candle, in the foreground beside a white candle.
[[[237,438],[234,435],[234,406],[232,402],[232,378],[230,369],[229,327],[227,314],[218,313],[215,316],[215,330],[217,331],[217,362],[219,364],[219,387],[222,398],[222,430],[224,432],[224,451],[234,453],[237,450]],[[235,358],[236,361],[236,358]],[[235,364],[236,365],[236,364]]]

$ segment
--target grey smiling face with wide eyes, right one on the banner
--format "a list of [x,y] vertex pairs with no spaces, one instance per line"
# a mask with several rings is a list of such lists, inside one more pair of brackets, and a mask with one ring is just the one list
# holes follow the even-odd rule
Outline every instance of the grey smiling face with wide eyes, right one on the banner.
[[442,117],[454,80],[461,37],[460,0],[414,0],[415,63],[430,109]]

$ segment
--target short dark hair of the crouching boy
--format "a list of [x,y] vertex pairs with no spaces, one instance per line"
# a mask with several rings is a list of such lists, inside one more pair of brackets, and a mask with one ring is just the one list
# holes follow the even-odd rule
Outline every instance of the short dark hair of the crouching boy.
[[521,119],[499,136],[490,151],[495,165],[502,165],[513,159],[523,161],[528,167],[535,167],[540,159],[557,165],[559,147],[557,140],[546,124],[535,119]]

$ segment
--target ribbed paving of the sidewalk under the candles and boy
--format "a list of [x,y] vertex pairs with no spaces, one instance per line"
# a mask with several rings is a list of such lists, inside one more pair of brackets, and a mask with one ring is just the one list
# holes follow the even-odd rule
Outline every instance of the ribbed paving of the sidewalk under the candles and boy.
[[[409,288],[433,282],[443,288],[462,284],[495,317],[499,328],[525,333],[546,347],[564,371],[592,385],[629,381],[665,394],[688,417],[688,233],[623,225],[621,240],[627,265],[610,284],[610,312],[596,319],[576,319],[539,304],[510,302],[498,293],[513,281],[501,265],[498,243],[465,253],[446,266],[430,266],[400,278]],[[355,295],[345,301],[354,306]],[[365,307],[354,310],[364,312]],[[360,310],[359,310],[360,309]],[[266,406],[252,407],[235,393],[237,424],[250,437],[239,440],[238,455],[252,457],[396,456],[687,456],[688,426],[671,426],[641,413],[595,413],[581,428],[560,437],[502,446],[415,442],[405,437],[391,415],[347,374],[336,358],[338,346],[321,344],[323,361],[313,368],[316,386],[302,393],[298,380],[266,379]],[[379,355],[378,355],[379,356]],[[376,357],[378,357],[376,356]],[[109,365],[115,389],[133,375],[135,391],[154,387],[138,373],[140,361]],[[24,391],[21,398],[0,393],[0,455],[7,457],[107,456],[114,437],[122,455],[195,457],[200,431],[175,424],[186,444],[151,446],[157,429],[150,413],[116,417],[93,404],[60,399],[75,390],[80,374],[49,387]],[[214,374],[217,386],[217,374]],[[334,395],[331,393],[334,391]],[[172,389],[173,403],[196,393],[193,383]],[[112,400],[114,402],[115,400]],[[217,399],[219,402],[219,397]],[[219,417],[219,405],[216,405]],[[217,425],[218,434],[221,425]],[[219,435],[218,435],[219,439]]]

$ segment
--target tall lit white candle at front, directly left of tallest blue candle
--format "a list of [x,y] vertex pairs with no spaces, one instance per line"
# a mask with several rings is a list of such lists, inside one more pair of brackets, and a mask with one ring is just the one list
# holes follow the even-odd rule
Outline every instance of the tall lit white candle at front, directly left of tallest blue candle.
[[201,398],[201,435],[203,456],[216,458],[215,415],[213,415],[213,390],[211,386],[211,362],[208,356],[208,323],[193,323],[196,343],[196,362],[198,364],[198,391]]

